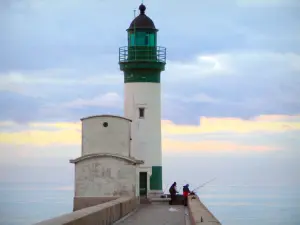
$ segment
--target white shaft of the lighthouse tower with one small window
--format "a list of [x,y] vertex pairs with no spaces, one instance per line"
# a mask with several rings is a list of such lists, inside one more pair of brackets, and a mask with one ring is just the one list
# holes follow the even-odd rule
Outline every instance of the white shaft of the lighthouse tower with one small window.
[[[161,166],[161,96],[159,83],[125,84],[125,117],[132,120],[132,155],[144,160],[142,166]],[[139,119],[139,107],[145,118]]]

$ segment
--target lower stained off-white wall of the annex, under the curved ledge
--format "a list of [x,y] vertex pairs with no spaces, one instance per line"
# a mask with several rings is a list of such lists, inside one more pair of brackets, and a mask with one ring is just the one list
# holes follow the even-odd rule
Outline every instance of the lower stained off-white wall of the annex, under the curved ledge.
[[134,196],[136,167],[110,157],[75,164],[75,197]]

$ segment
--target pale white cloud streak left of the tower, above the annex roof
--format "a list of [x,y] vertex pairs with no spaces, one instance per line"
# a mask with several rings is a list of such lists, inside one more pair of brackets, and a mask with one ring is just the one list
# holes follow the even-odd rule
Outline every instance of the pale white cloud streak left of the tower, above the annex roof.
[[[119,86],[123,77],[114,72],[91,69],[45,69],[0,73],[0,91],[12,91],[29,96],[49,96],[70,87]],[[84,74],[84,76],[83,76]]]

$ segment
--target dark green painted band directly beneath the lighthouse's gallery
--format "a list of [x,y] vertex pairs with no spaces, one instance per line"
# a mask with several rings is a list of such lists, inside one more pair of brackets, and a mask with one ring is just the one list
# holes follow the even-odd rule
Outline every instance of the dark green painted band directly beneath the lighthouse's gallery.
[[160,83],[160,71],[157,70],[124,71],[124,83],[135,83],[135,82]]

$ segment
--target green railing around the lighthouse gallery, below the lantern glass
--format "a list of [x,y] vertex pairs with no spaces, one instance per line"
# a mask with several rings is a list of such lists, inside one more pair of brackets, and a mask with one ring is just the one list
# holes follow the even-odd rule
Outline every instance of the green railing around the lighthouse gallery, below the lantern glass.
[[133,46],[119,48],[119,62],[160,62],[166,63],[166,48],[155,46]]

